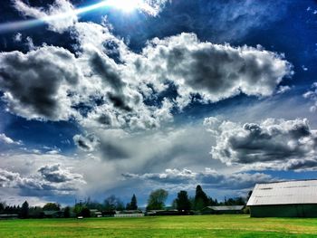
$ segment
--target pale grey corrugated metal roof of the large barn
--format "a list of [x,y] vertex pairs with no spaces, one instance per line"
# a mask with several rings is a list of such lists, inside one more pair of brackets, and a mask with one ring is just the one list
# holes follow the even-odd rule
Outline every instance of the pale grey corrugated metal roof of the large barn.
[[317,180],[257,184],[247,205],[317,204]]

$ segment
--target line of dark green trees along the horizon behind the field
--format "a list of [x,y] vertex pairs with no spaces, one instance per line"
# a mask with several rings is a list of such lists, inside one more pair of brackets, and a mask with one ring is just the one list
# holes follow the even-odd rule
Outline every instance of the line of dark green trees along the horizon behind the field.
[[[251,193],[249,193],[251,195]],[[248,195],[248,196],[249,196]],[[202,211],[209,205],[245,205],[246,199],[243,197],[235,197],[226,199],[223,202],[218,202],[216,199],[208,196],[201,186],[196,187],[194,196],[189,196],[187,191],[181,190],[177,197],[173,200],[172,205],[167,206],[166,200],[168,198],[168,191],[165,189],[157,189],[149,194],[147,211],[150,210],[164,210],[176,209],[180,214],[187,214],[189,211]],[[116,211],[137,211],[139,209],[136,195],[132,195],[130,203],[124,205],[120,197],[110,195],[106,197],[103,203],[91,201],[90,198],[84,202],[75,202],[75,205],[61,207],[57,203],[47,203],[41,206],[29,206],[27,201],[23,205],[5,205],[0,203],[0,214],[17,214],[20,218],[42,218],[54,214],[54,217],[72,217],[82,216],[90,217],[91,211],[100,211],[102,215],[114,214]],[[50,212],[50,214],[48,214]]]

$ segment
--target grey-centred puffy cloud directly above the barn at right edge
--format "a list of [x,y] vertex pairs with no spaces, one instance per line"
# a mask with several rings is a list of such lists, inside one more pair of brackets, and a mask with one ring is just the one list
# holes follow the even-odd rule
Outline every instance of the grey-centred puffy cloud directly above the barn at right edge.
[[307,119],[265,119],[242,125],[209,118],[205,125],[216,138],[211,156],[226,165],[275,169],[315,167],[317,131],[310,128]]

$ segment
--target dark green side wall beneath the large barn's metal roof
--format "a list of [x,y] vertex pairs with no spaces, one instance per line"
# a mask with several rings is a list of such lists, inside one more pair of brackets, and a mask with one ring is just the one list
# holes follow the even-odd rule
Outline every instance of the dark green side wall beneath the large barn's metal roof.
[[253,205],[251,217],[317,217],[317,205]]

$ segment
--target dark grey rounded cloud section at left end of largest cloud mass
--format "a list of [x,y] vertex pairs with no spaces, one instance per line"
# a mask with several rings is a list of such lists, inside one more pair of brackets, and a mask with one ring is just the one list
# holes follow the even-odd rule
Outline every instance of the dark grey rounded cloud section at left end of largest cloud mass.
[[0,90],[10,111],[26,119],[68,119],[67,90],[79,81],[71,52],[43,46],[28,52],[0,53]]

